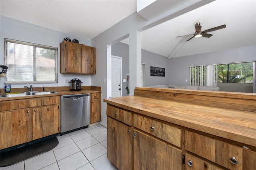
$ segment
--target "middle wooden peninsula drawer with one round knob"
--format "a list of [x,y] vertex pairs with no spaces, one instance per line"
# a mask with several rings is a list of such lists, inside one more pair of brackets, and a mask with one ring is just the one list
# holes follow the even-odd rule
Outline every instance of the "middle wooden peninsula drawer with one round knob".
[[181,147],[181,129],[137,114],[133,119],[134,127]]

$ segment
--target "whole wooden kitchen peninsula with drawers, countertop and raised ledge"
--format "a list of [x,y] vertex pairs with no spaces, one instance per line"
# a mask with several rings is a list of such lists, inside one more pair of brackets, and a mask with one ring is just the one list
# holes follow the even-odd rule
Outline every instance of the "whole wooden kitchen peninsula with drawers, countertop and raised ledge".
[[104,101],[107,155],[120,170],[254,169],[254,93],[136,87]]

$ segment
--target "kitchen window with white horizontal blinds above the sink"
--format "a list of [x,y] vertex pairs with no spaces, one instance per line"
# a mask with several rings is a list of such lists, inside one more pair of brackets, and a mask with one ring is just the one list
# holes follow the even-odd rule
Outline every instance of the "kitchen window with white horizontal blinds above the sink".
[[5,83],[57,83],[57,48],[4,39]]

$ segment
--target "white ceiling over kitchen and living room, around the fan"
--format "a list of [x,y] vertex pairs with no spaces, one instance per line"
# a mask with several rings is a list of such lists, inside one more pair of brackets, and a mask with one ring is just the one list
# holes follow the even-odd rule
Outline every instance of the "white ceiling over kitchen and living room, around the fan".
[[[91,40],[136,11],[136,0],[1,0],[0,14]],[[196,22],[211,38],[193,38]],[[128,43],[128,40],[122,41]],[[256,44],[256,1],[216,0],[142,32],[142,48],[180,57]],[[171,54],[171,55],[170,55]]]

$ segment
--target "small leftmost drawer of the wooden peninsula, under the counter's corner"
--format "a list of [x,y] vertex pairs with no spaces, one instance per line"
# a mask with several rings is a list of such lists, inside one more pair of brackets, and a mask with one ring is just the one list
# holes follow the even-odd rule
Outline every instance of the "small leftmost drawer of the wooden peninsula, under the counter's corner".
[[107,115],[122,123],[132,126],[132,112],[107,105]]

